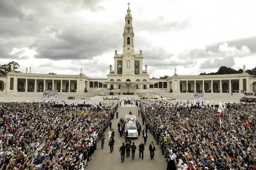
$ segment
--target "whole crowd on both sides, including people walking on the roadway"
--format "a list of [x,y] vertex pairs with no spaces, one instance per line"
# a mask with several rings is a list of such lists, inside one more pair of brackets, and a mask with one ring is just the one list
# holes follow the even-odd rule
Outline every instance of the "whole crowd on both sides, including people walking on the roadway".
[[[111,119],[117,107],[140,108],[145,128],[166,158],[167,170],[254,170],[256,164],[255,103],[168,101],[131,98],[126,101],[50,100],[6,102],[0,105],[0,167],[2,169],[84,169],[93,159],[97,142],[104,149],[104,131],[110,126],[108,144],[113,152]],[[252,98],[248,98],[252,99]],[[255,102],[255,99],[254,99]],[[218,111],[222,105],[221,111]],[[136,122],[140,127],[139,122]],[[134,159],[136,145],[127,139],[121,118],[118,131],[125,135],[119,148],[121,161]],[[155,145],[148,144],[154,159]],[[142,154],[142,155],[141,155]]]

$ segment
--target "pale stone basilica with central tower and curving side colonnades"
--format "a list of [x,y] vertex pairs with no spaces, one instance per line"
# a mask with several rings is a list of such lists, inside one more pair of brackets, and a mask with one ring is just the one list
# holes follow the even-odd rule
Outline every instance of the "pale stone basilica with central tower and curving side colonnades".
[[[145,68],[143,70],[143,68]],[[174,75],[167,79],[150,79],[147,65],[143,67],[142,50],[134,53],[134,30],[131,10],[128,7],[123,31],[123,51],[114,54],[114,66],[110,65],[107,78],[90,78],[82,73],[78,75],[50,75],[9,72],[0,77],[0,94],[12,92],[93,92],[99,89],[120,89],[120,94],[136,94],[137,89],[147,92],[158,89],[162,92],[251,92],[256,90],[256,78],[245,72],[224,75]]]

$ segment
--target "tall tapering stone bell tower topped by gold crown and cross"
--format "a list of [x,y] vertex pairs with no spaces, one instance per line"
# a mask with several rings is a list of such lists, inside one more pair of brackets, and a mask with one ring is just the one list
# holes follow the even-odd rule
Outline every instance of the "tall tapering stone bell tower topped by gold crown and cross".
[[125,28],[123,30],[123,55],[130,53],[134,55],[134,33],[133,33],[133,17],[131,17],[130,3],[127,4],[128,9],[125,16]]

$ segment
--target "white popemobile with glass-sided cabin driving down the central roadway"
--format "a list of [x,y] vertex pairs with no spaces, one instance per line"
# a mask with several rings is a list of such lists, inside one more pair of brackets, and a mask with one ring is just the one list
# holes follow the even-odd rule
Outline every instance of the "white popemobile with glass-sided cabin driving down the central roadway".
[[138,138],[138,131],[137,131],[137,126],[136,126],[136,116],[135,115],[130,115],[126,114],[126,125],[125,129],[128,130],[128,137],[130,138]]

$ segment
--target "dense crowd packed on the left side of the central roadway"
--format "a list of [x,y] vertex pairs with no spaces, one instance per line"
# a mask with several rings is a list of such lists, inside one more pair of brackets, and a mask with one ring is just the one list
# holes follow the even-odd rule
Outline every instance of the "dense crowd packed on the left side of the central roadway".
[[116,109],[114,101],[1,103],[1,170],[84,169]]

